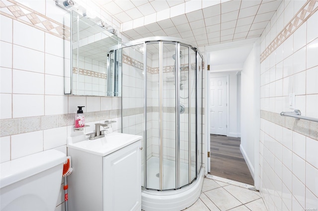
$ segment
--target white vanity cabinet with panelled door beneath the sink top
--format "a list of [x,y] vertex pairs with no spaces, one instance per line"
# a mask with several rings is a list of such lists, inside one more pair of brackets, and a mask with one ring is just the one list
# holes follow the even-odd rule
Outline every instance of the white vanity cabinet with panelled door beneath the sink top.
[[141,140],[106,156],[68,148],[69,211],[140,211]]

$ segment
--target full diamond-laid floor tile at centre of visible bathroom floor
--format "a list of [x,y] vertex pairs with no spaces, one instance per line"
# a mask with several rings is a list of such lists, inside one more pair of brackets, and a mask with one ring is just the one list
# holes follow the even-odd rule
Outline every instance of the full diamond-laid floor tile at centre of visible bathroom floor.
[[[225,186],[226,187],[226,186]],[[221,210],[226,211],[242,205],[234,196],[224,188],[216,188],[206,191],[205,195]]]

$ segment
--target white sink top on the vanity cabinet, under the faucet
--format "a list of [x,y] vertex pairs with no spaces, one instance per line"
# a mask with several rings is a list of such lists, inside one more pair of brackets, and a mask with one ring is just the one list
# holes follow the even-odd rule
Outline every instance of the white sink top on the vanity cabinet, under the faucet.
[[113,132],[95,140],[89,140],[86,136],[69,137],[67,146],[98,156],[107,156],[141,139],[142,136]]

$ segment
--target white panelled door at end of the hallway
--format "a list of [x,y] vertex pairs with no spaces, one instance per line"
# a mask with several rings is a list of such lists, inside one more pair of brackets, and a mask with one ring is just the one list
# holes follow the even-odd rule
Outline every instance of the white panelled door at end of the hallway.
[[227,78],[210,78],[210,134],[227,135]]

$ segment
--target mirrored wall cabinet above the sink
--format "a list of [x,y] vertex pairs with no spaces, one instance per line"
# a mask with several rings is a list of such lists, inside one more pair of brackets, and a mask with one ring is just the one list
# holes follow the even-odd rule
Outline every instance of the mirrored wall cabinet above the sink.
[[65,94],[121,96],[121,39],[101,24],[74,10],[65,14]]

